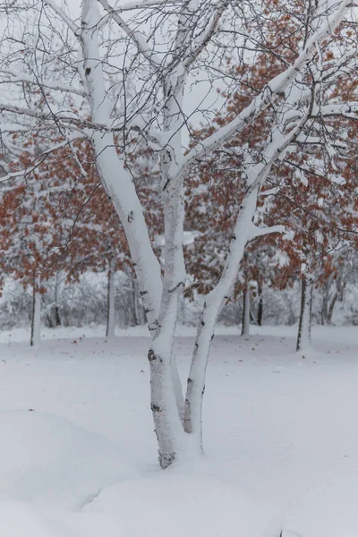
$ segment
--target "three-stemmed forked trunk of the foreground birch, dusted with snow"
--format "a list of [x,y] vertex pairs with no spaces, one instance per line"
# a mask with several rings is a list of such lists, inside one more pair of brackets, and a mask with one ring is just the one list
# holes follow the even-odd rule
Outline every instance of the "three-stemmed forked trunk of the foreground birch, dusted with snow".
[[[344,0],[345,4],[349,0]],[[305,47],[305,51],[290,67],[285,76],[281,74],[274,79],[274,84],[262,95],[252,101],[252,106],[248,107],[247,114],[241,115],[232,127],[224,127],[222,135],[213,134],[214,138],[209,141],[208,149],[217,149],[220,144],[229,140],[239,132],[243,132],[247,119],[252,115],[255,117],[260,111],[269,107],[281,95],[289,84],[294,80],[297,72],[315,54],[317,43],[326,37],[328,28],[336,28],[337,23],[343,17],[345,11],[338,9],[337,13],[328,21],[326,27],[314,34],[314,39],[310,46]],[[116,14],[114,13],[114,17]],[[185,38],[185,20],[188,17],[187,10],[183,10],[183,20],[178,22],[178,32],[175,49],[182,50],[183,38]],[[81,44],[83,50],[83,65],[81,66],[82,82],[89,98],[91,120],[101,125],[112,125],[111,103],[107,100],[107,89],[103,81],[102,63],[98,46],[98,21],[101,13],[98,10],[96,0],[82,0],[82,20],[81,20]],[[124,22],[120,20],[122,27]],[[134,41],[136,32],[132,32]],[[313,47],[314,43],[314,47]],[[140,39],[139,51],[144,51],[144,55],[151,63],[151,50],[146,50],[145,39]],[[189,50],[189,48],[188,48]],[[180,60],[179,60],[180,61]],[[183,174],[185,166],[183,159],[183,144],[181,143],[181,131],[183,129],[183,87],[185,79],[185,65],[178,64],[177,60],[172,62],[175,65],[172,71],[163,75],[165,99],[163,112],[163,131],[166,133],[168,142],[161,152],[162,168],[162,193],[163,207],[165,213],[165,275],[161,278],[161,271],[158,260],[149,241],[149,234],[143,217],[141,203],[135,192],[132,178],[124,169],[118,159],[115,150],[115,140],[113,132],[94,130],[92,132],[92,144],[96,154],[98,173],[101,177],[107,192],[114,203],[115,209],[121,218],[124,231],[128,239],[133,266],[141,287],[141,296],[145,303],[146,312],[149,318],[149,329],[153,336],[153,345],[149,350],[150,379],[151,379],[151,408],[155,422],[155,429],[158,436],[159,461],[162,467],[170,465],[177,453],[183,447],[183,426],[180,412],[176,402],[174,384],[176,376],[175,360],[173,359],[173,343],[175,336],[175,323],[178,312],[178,299],[181,294],[184,282],[183,267],[183,192],[179,189],[183,186]],[[161,64],[161,60],[159,60]],[[154,62],[155,69],[158,69],[157,60]],[[279,90],[279,93],[278,93]],[[287,107],[297,106],[296,92],[292,93],[292,100],[286,98],[285,110],[278,115],[280,124],[283,124]],[[250,108],[250,115],[249,115]],[[259,236],[269,233],[262,232],[252,224],[252,217],[256,209],[257,195],[260,186],[265,183],[271,166],[277,158],[290,146],[294,138],[302,132],[303,125],[308,119],[307,114],[295,124],[284,137],[283,133],[273,125],[268,144],[262,151],[260,162],[251,165],[251,155],[248,156],[248,188],[245,192],[240,215],[234,227],[234,234],[230,243],[230,250],[226,259],[226,267],[217,286],[208,295],[203,311],[201,312],[200,326],[197,331],[195,348],[192,356],[192,366],[187,384],[185,399],[184,429],[193,432],[198,439],[201,438],[201,407],[202,395],[205,388],[205,371],[207,368],[209,346],[214,334],[214,327],[217,316],[229,294],[232,291],[240,263],[243,259],[243,251],[246,243]],[[210,138],[210,137],[209,137]],[[170,141],[170,142],[169,142]],[[205,143],[201,142],[205,148]],[[190,160],[187,160],[190,163]],[[243,169],[244,169],[243,166]],[[250,169],[249,169],[250,168]],[[245,168],[246,169],[246,168]],[[182,199],[182,200],[180,200]],[[182,205],[180,207],[180,204]],[[276,231],[278,229],[276,228]],[[272,228],[271,228],[272,232]],[[189,440],[192,443],[192,439]]]

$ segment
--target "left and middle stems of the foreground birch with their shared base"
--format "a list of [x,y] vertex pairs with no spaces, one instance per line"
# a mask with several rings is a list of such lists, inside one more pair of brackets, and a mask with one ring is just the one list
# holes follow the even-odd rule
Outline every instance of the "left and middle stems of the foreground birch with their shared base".
[[[91,119],[99,124],[111,124],[106,88],[98,48],[97,23],[100,20],[97,0],[82,3],[82,49],[84,83],[90,101]],[[184,281],[183,270],[183,188],[177,175],[179,151],[182,151],[180,131],[183,76],[172,73],[164,92],[166,98],[164,130],[174,131],[171,147],[162,156],[162,188],[165,216],[165,279],[161,280],[158,260],[152,250],[141,202],[130,175],[118,159],[111,133],[93,132],[98,174],[107,188],[121,218],[129,243],[149,329],[154,337],[149,350],[151,409],[159,445],[159,462],[170,465],[181,449],[183,427],[177,399],[179,375],[173,357],[173,343],[178,311],[178,297]],[[179,127],[179,128],[178,128]],[[175,149],[172,150],[172,147]]]

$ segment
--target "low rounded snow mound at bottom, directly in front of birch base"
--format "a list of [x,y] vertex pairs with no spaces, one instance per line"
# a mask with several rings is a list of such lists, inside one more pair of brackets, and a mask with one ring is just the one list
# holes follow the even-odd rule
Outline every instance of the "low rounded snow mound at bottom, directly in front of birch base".
[[172,471],[115,485],[85,510],[112,517],[121,537],[278,537],[282,527],[277,508],[233,484]]

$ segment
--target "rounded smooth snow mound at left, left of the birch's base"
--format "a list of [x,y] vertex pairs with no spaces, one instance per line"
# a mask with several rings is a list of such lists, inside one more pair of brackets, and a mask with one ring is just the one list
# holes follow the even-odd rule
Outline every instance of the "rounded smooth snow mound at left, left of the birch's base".
[[114,442],[53,415],[0,412],[0,438],[0,500],[81,507],[135,475]]

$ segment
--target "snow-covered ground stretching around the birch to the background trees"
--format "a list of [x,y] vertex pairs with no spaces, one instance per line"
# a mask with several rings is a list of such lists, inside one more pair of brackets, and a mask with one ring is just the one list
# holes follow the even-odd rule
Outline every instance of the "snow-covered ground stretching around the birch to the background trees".
[[[103,327],[47,330],[37,348],[27,332],[0,333],[1,537],[256,537],[279,516],[265,499],[303,537],[356,537],[358,328],[315,328],[304,356],[294,353],[295,328],[255,330],[217,330],[206,456],[165,475],[145,328],[110,341]],[[192,337],[179,328],[183,379]],[[195,502],[207,523],[185,527]]]

